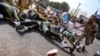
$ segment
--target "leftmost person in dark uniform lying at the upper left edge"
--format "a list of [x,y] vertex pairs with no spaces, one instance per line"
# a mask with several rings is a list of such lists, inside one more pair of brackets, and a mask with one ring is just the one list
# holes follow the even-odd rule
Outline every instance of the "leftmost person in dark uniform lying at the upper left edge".
[[10,6],[7,3],[0,2],[0,14],[3,15],[4,20],[9,20],[11,22],[15,20],[19,21],[20,19],[17,15],[18,12],[19,12],[18,8]]

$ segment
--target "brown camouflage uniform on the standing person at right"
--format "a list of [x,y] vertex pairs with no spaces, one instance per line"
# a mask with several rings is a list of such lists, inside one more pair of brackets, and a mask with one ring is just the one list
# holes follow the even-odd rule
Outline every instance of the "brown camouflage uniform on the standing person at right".
[[85,44],[89,45],[93,43],[93,40],[95,38],[97,32],[97,24],[95,22],[93,22],[93,24],[87,24],[85,26],[85,30],[84,30],[84,36],[86,37],[85,40]]

